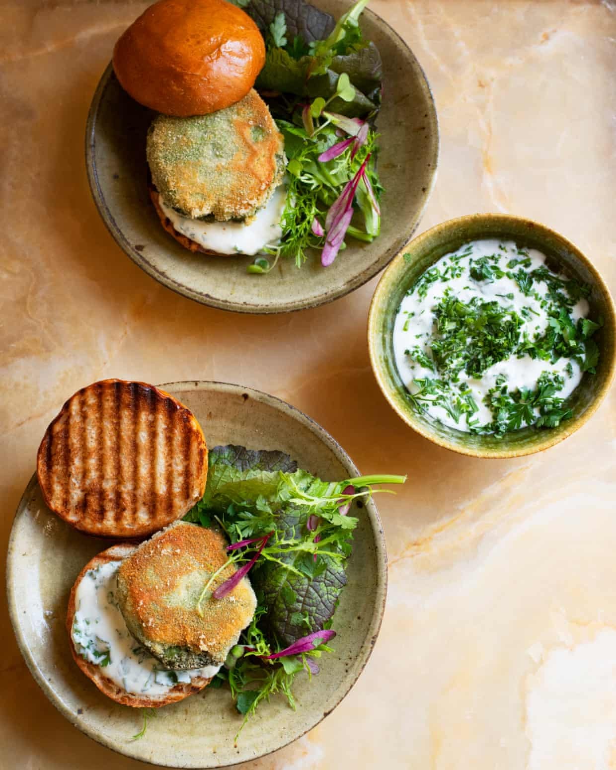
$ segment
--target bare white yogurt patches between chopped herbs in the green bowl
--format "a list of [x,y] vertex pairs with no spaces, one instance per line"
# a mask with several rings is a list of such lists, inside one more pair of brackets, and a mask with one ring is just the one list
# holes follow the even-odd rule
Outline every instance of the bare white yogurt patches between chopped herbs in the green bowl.
[[[507,270],[507,263],[511,259],[522,259],[521,253],[527,255],[527,258],[531,260],[531,266],[527,267],[529,271],[545,263],[543,253],[536,249],[519,250],[512,241],[485,239],[466,243],[457,252],[445,255],[433,266],[442,274],[448,266],[457,265],[461,270],[451,271],[454,273],[454,277],[450,277],[446,281],[439,279],[431,283],[427,288],[426,296],[423,298],[417,293],[417,290],[404,297],[393,328],[393,350],[398,372],[410,393],[417,393],[420,390],[413,384],[413,380],[420,380],[423,377],[433,379],[439,377],[438,373],[412,360],[406,351],[417,346],[421,353],[430,357],[430,340],[434,340],[437,336],[433,311],[444,297],[447,288],[464,303],[469,302],[473,297],[479,297],[483,301],[495,300],[501,307],[511,308],[522,318],[524,318],[524,314],[530,316],[524,320],[524,324],[521,326],[520,339],[523,338],[524,332],[528,334],[531,340],[544,333],[548,326],[546,310],[541,307],[540,301],[534,296],[527,296],[522,293],[513,278],[503,276],[494,278],[494,281],[490,283],[489,280],[474,280],[469,274],[471,260],[497,255],[498,258],[490,261],[490,265]],[[462,254],[465,256],[460,258]],[[452,257],[458,259],[452,260]],[[513,272],[515,269],[513,268]],[[457,276],[458,272],[461,273],[459,276]],[[565,276],[557,277],[565,278]],[[547,284],[543,281],[535,281],[533,286],[534,290],[541,296],[547,292]],[[513,295],[513,298],[503,295]],[[523,313],[523,308],[528,310]],[[587,316],[588,310],[588,302],[581,299],[571,309],[571,318],[577,322],[577,319]],[[567,367],[569,367],[568,370]],[[490,389],[496,387],[499,375],[507,377],[507,390],[511,392],[522,388],[534,389],[543,372],[559,374],[564,378],[564,387],[557,393],[558,398],[569,396],[580,383],[582,377],[581,367],[573,359],[561,358],[556,363],[551,363],[551,361],[533,359],[527,353],[520,358],[513,354],[505,360],[494,363],[487,370],[484,370],[481,377],[477,379],[467,377],[464,371],[460,372],[460,382],[466,382],[470,387],[478,407],[477,412],[472,415],[472,420],[477,420],[477,423],[474,424],[487,425],[487,423],[492,422],[493,413],[484,404],[484,397]],[[449,427],[466,432],[470,430],[467,425],[466,414],[462,415],[459,421],[456,421],[447,410],[436,404],[430,404],[427,413],[434,420]],[[535,410],[535,413],[538,417],[539,411]],[[468,419],[471,419],[470,415]]]

